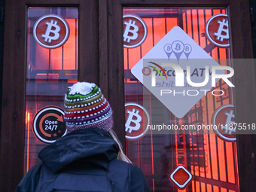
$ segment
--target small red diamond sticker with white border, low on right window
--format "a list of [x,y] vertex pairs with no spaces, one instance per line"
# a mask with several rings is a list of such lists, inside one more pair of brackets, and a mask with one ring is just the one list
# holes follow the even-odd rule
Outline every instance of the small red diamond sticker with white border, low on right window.
[[169,178],[176,187],[183,189],[191,181],[192,174],[184,166],[180,165],[174,169]]

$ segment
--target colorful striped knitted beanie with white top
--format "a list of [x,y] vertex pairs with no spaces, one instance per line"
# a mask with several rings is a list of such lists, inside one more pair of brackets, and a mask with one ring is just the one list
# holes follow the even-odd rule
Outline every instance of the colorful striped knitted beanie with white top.
[[113,126],[111,106],[96,84],[78,82],[69,87],[64,105],[68,133],[89,127],[108,131]]

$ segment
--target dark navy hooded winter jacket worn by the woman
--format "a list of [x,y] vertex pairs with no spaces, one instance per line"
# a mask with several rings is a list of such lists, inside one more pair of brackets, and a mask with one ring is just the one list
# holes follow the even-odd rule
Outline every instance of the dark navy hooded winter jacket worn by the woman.
[[[111,182],[114,182],[121,191],[149,192],[142,170],[117,160],[117,152],[117,143],[104,130],[90,128],[73,131],[57,139],[53,144],[47,145],[39,153],[42,163],[38,163],[29,170],[16,192],[45,192],[44,186],[53,183],[56,175],[72,172],[73,176],[69,179],[77,181],[81,175],[86,175],[88,170],[108,172]],[[90,179],[95,181],[96,177],[93,178],[94,176],[91,175],[93,174],[90,174]],[[70,186],[69,182],[58,179],[60,179],[59,182],[63,182],[63,187],[69,189],[74,187]],[[101,182],[99,181],[99,185],[102,184]]]

